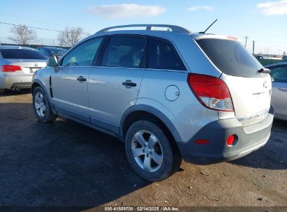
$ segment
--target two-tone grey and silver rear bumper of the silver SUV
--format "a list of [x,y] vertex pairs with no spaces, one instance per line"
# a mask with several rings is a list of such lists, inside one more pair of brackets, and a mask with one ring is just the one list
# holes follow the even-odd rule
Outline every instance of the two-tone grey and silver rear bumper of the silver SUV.
[[[178,142],[179,150],[186,162],[211,164],[235,160],[264,146],[269,137],[274,117],[271,106],[263,121],[251,126],[242,126],[237,119],[222,119],[207,124],[189,142]],[[237,135],[234,146],[228,146],[226,139]],[[208,139],[209,144],[195,144],[196,139]]]

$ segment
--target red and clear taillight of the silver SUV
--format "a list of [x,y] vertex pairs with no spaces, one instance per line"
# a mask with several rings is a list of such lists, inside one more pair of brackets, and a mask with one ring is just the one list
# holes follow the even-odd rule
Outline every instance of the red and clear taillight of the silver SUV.
[[228,87],[221,79],[208,75],[189,74],[187,81],[203,106],[219,111],[234,111]]

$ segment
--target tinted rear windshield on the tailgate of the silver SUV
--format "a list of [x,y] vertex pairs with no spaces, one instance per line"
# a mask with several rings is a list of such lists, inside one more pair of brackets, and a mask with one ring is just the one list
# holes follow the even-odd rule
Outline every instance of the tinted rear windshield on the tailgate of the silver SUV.
[[227,75],[238,77],[265,77],[264,73],[258,73],[263,66],[250,54],[246,48],[235,40],[201,39],[198,45],[205,54]]

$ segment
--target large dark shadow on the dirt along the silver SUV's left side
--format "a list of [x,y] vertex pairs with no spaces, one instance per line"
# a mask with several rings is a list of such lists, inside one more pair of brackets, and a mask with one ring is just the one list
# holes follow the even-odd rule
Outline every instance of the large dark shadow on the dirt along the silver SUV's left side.
[[149,185],[118,139],[66,119],[40,123],[31,103],[0,103],[0,135],[0,206],[89,208]]

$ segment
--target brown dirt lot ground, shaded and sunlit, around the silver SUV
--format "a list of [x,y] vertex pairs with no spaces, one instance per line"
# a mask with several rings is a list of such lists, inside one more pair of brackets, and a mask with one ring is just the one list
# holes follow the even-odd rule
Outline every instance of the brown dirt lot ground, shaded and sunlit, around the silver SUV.
[[124,144],[73,121],[39,123],[28,92],[0,96],[0,206],[287,206],[287,123],[233,162],[148,183]]

